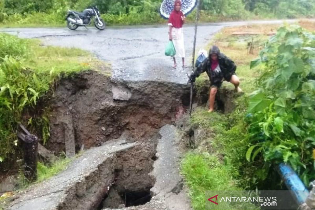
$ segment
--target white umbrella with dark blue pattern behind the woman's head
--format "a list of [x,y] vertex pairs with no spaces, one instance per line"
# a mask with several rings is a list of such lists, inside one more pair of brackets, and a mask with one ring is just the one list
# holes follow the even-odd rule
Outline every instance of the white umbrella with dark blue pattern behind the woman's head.
[[[169,15],[174,10],[175,0],[163,0],[160,7],[160,14],[164,19],[169,19]],[[189,14],[197,5],[197,0],[181,0],[181,11]]]

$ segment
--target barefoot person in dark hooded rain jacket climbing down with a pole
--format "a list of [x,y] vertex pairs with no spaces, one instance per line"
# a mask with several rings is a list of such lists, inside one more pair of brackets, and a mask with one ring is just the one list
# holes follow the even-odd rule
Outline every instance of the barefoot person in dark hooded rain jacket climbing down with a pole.
[[231,82],[236,92],[242,92],[241,88],[238,87],[240,82],[235,71],[235,63],[221,53],[217,46],[212,46],[209,50],[209,57],[198,65],[196,70],[190,75],[190,81],[195,82],[196,77],[199,77],[203,72],[207,72],[210,79],[209,112],[214,110],[215,94],[218,88],[221,87],[223,80]]

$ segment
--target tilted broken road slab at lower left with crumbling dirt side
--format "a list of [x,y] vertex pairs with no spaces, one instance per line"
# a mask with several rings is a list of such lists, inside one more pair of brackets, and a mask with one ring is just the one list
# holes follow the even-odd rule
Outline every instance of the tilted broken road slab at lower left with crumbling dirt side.
[[13,196],[6,209],[96,209],[114,183],[116,153],[135,145],[116,139],[86,150],[65,171]]

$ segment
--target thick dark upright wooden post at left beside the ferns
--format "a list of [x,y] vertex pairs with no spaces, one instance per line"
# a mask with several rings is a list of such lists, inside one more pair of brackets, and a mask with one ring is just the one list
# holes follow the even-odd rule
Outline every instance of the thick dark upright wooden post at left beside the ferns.
[[24,175],[30,181],[37,179],[37,150],[37,136],[26,135],[23,139]]

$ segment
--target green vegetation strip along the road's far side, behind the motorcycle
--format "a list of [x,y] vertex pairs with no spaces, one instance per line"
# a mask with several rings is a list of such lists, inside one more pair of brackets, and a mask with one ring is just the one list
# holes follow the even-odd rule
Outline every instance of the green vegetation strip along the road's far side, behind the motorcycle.
[[[96,5],[107,25],[162,24],[162,0],[0,0],[1,27],[65,26],[68,9],[82,12]],[[310,18],[315,15],[315,0],[203,0],[202,22],[228,20]],[[194,21],[195,12],[187,17]]]

